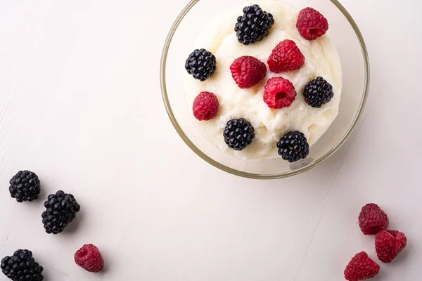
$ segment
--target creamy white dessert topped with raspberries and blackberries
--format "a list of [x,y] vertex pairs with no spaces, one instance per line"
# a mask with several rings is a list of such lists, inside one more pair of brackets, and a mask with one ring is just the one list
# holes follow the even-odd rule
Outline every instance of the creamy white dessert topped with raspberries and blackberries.
[[[203,136],[240,159],[290,155],[283,159],[293,162],[306,157],[305,146],[296,150],[302,144],[279,154],[277,143],[297,131],[311,147],[338,115],[342,70],[327,30],[328,21],[318,11],[298,13],[280,1],[245,4],[212,20],[185,65],[186,101]],[[215,95],[210,101],[218,101],[218,110],[215,101],[196,102],[203,92]],[[205,119],[198,118],[198,111]],[[248,122],[253,138],[227,131],[234,119]]]

